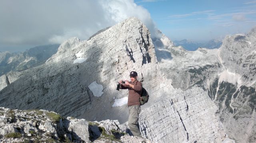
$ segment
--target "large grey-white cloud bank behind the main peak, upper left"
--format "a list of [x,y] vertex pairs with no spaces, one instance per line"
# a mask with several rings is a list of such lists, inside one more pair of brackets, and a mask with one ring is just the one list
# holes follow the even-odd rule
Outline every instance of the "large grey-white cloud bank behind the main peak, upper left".
[[0,43],[45,45],[70,37],[88,39],[98,30],[131,16],[154,35],[150,13],[133,0],[1,0]]

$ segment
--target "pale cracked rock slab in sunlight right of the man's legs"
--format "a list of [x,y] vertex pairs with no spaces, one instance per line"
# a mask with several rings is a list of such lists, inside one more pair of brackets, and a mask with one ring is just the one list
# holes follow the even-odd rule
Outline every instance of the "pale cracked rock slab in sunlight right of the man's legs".
[[158,143],[222,142],[226,134],[217,106],[201,88],[175,90],[140,114],[142,137]]

